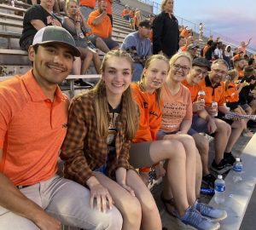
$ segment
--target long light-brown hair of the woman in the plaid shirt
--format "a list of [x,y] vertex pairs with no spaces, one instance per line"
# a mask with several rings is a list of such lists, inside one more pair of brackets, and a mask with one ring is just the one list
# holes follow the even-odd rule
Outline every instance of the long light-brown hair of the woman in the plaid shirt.
[[[101,72],[106,69],[107,62],[112,57],[125,58],[131,63],[131,72],[133,72],[133,62],[131,56],[123,50],[112,50],[109,51],[103,61]],[[95,97],[95,107],[96,107],[96,121],[97,121],[97,131],[98,134],[104,137],[108,136],[108,98],[106,94],[106,84],[101,79],[94,89],[91,89],[96,95]],[[132,99],[131,87],[129,86],[122,95],[122,104],[125,105],[126,110],[126,121],[125,121],[125,135],[131,140],[137,131],[137,104]],[[124,109],[124,107],[122,107]]]

